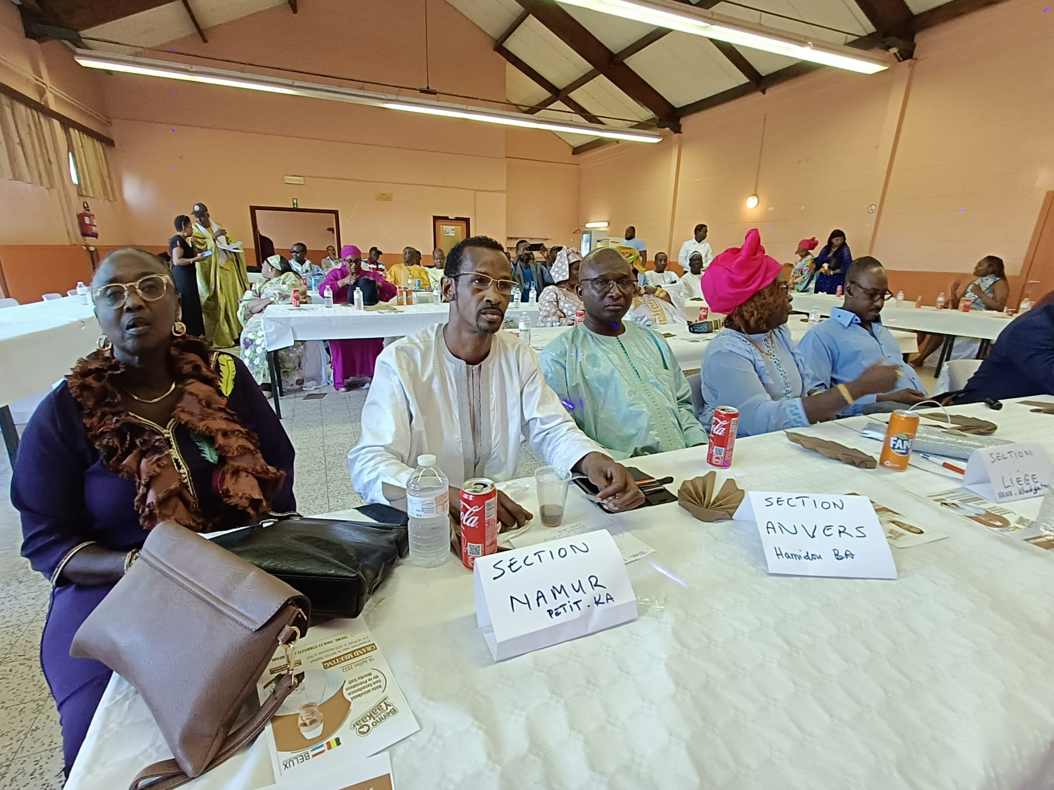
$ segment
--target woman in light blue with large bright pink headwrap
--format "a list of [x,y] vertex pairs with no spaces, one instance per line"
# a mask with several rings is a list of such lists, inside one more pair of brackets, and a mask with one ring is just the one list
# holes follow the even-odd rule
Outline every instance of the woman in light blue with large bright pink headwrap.
[[738,409],[739,435],[754,436],[834,419],[857,398],[895,387],[896,368],[875,364],[855,381],[825,389],[790,339],[783,265],[765,255],[757,230],[747,232],[742,248],[717,256],[701,284],[710,310],[727,316],[703,356],[707,430],[719,406]]

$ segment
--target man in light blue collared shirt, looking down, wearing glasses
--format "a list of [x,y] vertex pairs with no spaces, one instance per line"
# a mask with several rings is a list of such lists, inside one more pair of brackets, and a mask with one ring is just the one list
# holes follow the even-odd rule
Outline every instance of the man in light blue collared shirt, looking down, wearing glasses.
[[831,317],[798,343],[805,363],[828,389],[858,378],[879,362],[897,368],[897,388],[865,395],[838,413],[839,417],[892,412],[925,400],[925,388],[915,369],[904,362],[900,345],[882,325],[882,305],[890,298],[885,270],[875,258],[857,258],[845,273],[845,298]]

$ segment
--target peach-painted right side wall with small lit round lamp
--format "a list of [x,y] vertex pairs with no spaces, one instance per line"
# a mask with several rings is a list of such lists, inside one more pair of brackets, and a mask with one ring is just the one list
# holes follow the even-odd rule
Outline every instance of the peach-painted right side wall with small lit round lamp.
[[[1054,189],[1054,70],[1038,65],[1054,62],[1048,4],[1009,0],[926,31],[915,62],[878,75],[816,72],[689,117],[679,166],[676,138],[583,155],[580,217],[612,233],[636,224],[650,256],[670,236],[676,254],[697,222],[716,251],[759,228],[783,261],[834,228],[866,254],[877,221],[874,254],[928,301],[987,254],[1015,275]],[[748,210],[763,120],[760,203]]]

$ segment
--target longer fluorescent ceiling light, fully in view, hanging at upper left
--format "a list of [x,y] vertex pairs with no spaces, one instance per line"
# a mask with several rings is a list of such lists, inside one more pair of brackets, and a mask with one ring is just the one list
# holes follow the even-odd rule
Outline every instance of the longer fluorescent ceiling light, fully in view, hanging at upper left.
[[607,137],[614,140],[630,142],[660,142],[662,137],[658,132],[645,132],[632,129],[619,129],[596,123],[579,123],[577,121],[547,121],[538,116],[524,113],[510,113],[504,110],[486,110],[468,104],[453,104],[445,101],[417,99],[414,97],[378,94],[370,91],[358,91],[350,87],[326,85],[319,82],[300,82],[297,80],[262,75],[229,72],[221,68],[189,65],[167,60],[150,60],[128,55],[100,55],[86,50],[76,51],[74,58],[82,66],[102,68],[108,72],[124,72],[145,77],[163,77],[165,79],[203,82],[211,85],[241,87],[248,91],[265,91],[267,93],[286,94],[288,96],[306,96],[329,101],[344,101],[351,104],[367,104],[389,110],[403,110],[411,113],[438,115],[446,118],[463,118],[485,123],[501,123],[506,126],[522,126],[524,129],[541,129],[549,132],[564,132],[589,137]]

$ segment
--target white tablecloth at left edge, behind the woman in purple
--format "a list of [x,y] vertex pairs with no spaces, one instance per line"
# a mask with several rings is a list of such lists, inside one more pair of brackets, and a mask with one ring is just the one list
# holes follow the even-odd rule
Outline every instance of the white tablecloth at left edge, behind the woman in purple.
[[76,296],[0,310],[0,406],[47,391],[101,334],[93,307]]

